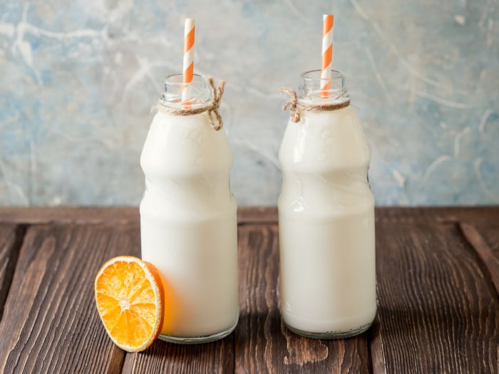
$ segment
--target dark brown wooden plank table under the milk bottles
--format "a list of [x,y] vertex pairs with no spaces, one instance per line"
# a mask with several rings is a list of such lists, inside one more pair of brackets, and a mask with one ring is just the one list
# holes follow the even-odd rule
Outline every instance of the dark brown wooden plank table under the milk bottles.
[[240,209],[240,321],[222,341],[111,343],[104,261],[140,256],[136,208],[0,208],[0,373],[498,373],[499,207],[376,209],[378,315],[302,338],[277,307],[277,212]]

